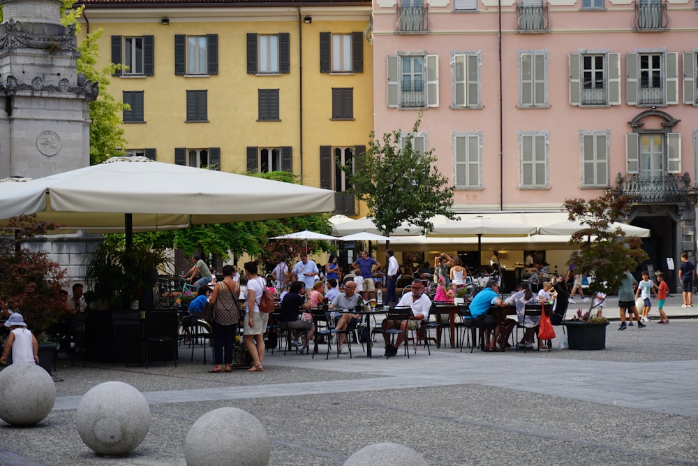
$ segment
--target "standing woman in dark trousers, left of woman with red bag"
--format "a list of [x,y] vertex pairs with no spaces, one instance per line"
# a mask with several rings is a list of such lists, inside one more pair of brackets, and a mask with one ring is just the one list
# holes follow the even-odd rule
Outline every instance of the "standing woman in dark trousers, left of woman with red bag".
[[[232,265],[225,265],[223,267],[223,281],[216,284],[211,294],[210,303],[215,305],[213,314],[214,368],[209,370],[211,374],[221,372],[223,362],[225,362],[225,372],[232,371],[232,367],[230,367],[232,364],[232,345],[235,343],[237,326],[240,323],[240,308],[237,302],[240,285],[232,279],[232,273]],[[223,348],[225,348],[225,360],[223,359]]]

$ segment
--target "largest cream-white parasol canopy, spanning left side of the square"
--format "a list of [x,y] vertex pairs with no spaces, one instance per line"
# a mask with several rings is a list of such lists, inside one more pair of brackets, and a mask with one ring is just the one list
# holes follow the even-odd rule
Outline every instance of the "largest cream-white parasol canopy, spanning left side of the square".
[[37,213],[68,229],[93,232],[184,228],[333,210],[334,191],[144,157],[117,157],[37,180],[0,183],[1,219]]

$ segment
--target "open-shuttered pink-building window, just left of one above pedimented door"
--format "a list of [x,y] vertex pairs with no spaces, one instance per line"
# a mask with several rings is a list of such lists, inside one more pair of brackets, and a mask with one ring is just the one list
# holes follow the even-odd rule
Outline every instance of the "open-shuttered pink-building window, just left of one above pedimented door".
[[620,105],[621,54],[570,54],[570,105]]

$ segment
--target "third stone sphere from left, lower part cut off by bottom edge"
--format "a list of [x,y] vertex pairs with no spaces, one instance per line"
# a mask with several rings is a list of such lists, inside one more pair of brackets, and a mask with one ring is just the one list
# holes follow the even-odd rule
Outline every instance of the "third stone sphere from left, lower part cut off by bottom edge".
[[187,466],[263,466],[269,464],[270,453],[264,425],[252,414],[231,407],[198,418],[184,441]]

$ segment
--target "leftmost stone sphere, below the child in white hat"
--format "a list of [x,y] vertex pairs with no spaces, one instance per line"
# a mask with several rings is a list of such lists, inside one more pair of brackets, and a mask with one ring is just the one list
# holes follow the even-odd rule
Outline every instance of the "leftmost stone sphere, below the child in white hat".
[[12,425],[34,425],[56,402],[56,385],[43,367],[14,363],[0,372],[0,418]]

